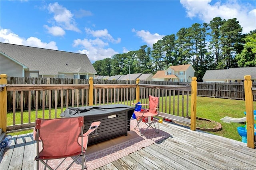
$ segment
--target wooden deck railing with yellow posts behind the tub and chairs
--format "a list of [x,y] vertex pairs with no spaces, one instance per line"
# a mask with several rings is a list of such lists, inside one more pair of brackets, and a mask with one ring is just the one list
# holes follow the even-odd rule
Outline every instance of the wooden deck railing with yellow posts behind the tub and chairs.
[[[35,126],[35,118],[54,119],[68,107],[118,103],[133,106],[138,101],[148,104],[148,96],[154,95],[160,97],[160,117],[191,123],[191,130],[195,130],[196,83],[193,77],[191,86],[145,85],[139,79],[136,84],[93,84],[90,77],[89,84],[13,85],[7,84],[7,75],[2,74],[0,128],[4,132],[28,130]],[[190,115],[191,121],[187,118]]]

